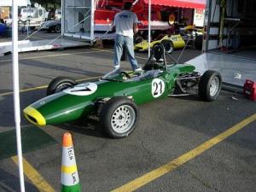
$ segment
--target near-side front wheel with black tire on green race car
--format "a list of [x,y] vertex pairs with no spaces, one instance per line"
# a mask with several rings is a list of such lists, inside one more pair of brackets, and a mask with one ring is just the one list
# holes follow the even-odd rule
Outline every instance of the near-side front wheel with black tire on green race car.
[[108,100],[100,113],[100,125],[109,137],[128,137],[137,126],[139,111],[137,105],[125,96]]

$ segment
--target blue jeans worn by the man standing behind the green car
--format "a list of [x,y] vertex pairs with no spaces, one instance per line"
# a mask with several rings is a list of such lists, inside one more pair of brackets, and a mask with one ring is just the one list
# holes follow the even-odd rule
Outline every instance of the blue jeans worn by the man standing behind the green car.
[[129,61],[131,62],[131,68],[134,71],[138,68],[138,65],[137,60],[134,57],[133,38],[122,36],[119,34],[116,34],[114,43],[113,65],[120,65],[120,59],[123,54],[124,45]]

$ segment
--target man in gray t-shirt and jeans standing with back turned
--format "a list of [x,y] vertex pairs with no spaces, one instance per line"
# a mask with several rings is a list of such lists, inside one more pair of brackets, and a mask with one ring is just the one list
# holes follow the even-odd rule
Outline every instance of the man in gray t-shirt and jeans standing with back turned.
[[133,34],[138,32],[137,15],[132,13],[132,3],[125,2],[124,10],[114,16],[113,26],[115,26],[116,38],[114,43],[113,67],[120,67],[120,59],[123,54],[123,47],[131,62],[133,71],[141,71],[138,67],[137,60],[134,57]]

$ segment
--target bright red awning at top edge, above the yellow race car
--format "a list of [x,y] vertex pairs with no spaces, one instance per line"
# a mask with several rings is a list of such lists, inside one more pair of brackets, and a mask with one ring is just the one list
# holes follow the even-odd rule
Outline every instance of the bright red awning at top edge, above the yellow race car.
[[[148,0],[144,2],[148,3]],[[191,9],[206,8],[206,0],[151,0],[151,4]]]

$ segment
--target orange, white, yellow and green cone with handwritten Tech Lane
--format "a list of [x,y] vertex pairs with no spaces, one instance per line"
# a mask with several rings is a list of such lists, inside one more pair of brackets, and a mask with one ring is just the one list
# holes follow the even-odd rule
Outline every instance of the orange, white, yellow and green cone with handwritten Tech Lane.
[[73,141],[69,132],[63,135],[62,142],[61,192],[81,192]]

